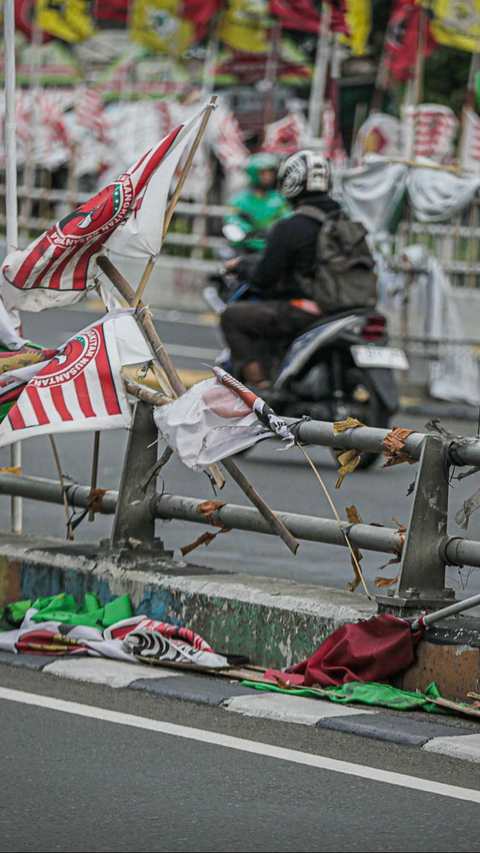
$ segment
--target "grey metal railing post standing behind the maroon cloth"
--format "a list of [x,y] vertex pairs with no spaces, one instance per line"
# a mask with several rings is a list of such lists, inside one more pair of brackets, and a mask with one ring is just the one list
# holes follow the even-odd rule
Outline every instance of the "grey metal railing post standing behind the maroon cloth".
[[443,545],[447,537],[449,459],[447,444],[425,436],[413,495],[402,567],[393,596],[378,595],[381,607],[431,610],[455,597],[445,589]]

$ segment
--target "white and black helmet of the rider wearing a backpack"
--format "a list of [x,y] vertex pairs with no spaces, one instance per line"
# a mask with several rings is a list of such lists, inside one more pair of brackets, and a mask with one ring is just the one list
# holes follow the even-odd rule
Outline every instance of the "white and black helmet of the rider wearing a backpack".
[[278,186],[285,198],[327,193],[331,186],[330,162],[315,151],[297,151],[278,170]]

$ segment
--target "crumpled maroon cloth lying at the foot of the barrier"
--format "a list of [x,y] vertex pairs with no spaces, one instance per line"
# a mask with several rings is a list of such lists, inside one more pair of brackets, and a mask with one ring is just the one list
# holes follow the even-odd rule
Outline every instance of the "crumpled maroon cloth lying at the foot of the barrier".
[[349,681],[388,681],[415,660],[421,631],[412,632],[404,619],[384,613],[365,622],[342,625],[307,660],[285,672],[268,670],[265,677],[280,676],[303,687],[336,687]]

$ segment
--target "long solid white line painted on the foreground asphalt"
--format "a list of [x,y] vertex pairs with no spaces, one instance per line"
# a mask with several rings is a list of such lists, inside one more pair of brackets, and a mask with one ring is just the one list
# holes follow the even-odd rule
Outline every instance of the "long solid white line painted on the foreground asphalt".
[[144,729],[172,737],[181,737],[186,740],[198,741],[202,744],[212,744],[217,747],[221,746],[226,749],[235,749],[239,752],[246,752],[252,755],[263,755],[265,758],[277,758],[293,764],[301,764],[305,767],[314,767],[317,770],[343,773],[347,776],[356,776],[361,779],[369,779],[372,782],[387,785],[397,785],[413,791],[438,794],[442,797],[450,797],[470,803],[480,803],[480,791],[474,791],[469,788],[446,785],[443,782],[420,779],[415,776],[407,776],[403,773],[394,773],[390,770],[380,770],[378,767],[367,767],[362,764],[353,764],[349,761],[339,761],[336,758],[326,758],[323,755],[311,755],[295,749],[285,749],[281,746],[272,746],[271,744],[245,740],[244,738],[205,731],[204,729],[180,726],[175,723],[165,723],[160,720],[151,720],[133,714],[124,714],[120,711],[96,708],[93,705],[81,705],[77,702],[65,701],[64,699],[54,699],[51,696],[25,693],[23,690],[11,690],[7,687],[0,687],[0,699],[5,699],[9,702],[18,702],[23,705],[33,705],[37,708],[45,708],[50,711],[61,711],[64,714],[73,714],[91,720],[101,720],[106,723],[115,723],[116,725],[130,726],[131,728]]

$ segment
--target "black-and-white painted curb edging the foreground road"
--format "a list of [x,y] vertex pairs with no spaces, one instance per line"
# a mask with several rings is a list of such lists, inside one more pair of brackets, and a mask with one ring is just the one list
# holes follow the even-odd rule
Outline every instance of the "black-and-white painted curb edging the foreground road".
[[472,725],[468,723],[453,726],[426,715],[426,719],[419,720],[418,715],[413,718],[400,712],[338,705],[321,698],[267,693],[228,679],[102,658],[0,652],[0,664],[23,666],[57,678],[102,684],[112,689],[141,690],[166,699],[223,708],[226,712],[248,717],[335,729],[480,763],[480,726],[479,733],[475,729],[472,733]]

